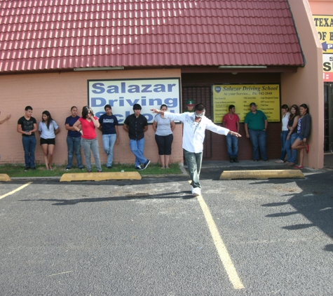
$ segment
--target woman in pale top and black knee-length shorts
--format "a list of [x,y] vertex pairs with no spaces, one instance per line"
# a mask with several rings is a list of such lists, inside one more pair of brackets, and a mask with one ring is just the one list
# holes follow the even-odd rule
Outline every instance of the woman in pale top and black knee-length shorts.
[[[161,111],[168,111],[167,105],[161,106]],[[157,114],[154,119],[155,140],[160,156],[161,168],[169,168],[171,145],[173,141],[172,130],[175,129],[175,121],[166,119],[163,115]]]

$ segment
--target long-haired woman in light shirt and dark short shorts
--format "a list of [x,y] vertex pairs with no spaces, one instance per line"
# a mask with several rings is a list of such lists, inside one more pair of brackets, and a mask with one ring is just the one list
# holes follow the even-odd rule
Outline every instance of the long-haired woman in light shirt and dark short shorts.
[[53,150],[55,149],[55,135],[60,132],[60,128],[52,119],[50,112],[43,112],[38,130],[41,135],[41,147],[43,148],[46,170],[53,170],[52,161]]

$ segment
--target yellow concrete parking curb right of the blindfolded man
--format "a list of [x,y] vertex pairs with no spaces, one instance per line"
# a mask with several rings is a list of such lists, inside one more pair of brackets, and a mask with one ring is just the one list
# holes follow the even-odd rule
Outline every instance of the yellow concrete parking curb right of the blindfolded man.
[[304,174],[301,170],[226,170],[220,175],[219,180],[269,178],[304,179]]

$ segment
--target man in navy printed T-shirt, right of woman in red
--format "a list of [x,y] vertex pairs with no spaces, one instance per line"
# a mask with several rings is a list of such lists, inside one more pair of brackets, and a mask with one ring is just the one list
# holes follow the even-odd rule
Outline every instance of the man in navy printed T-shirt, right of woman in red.
[[102,142],[104,152],[107,154],[107,168],[112,168],[114,163],[114,144],[119,144],[118,119],[112,114],[110,105],[105,105],[105,114],[100,116],[100,127],[102,130]]

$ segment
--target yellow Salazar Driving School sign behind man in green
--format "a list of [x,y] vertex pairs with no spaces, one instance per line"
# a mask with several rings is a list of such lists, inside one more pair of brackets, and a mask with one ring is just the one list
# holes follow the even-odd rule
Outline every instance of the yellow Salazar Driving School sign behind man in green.
[[244,122],[252,102],[266,114],[269,122],[280,122],[279,84],[213,84],[213,122],[222,123],[223,116],[229,113],[229,105],[235,105],[240,122]]

